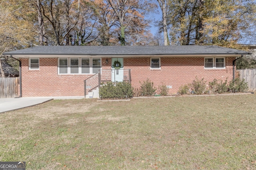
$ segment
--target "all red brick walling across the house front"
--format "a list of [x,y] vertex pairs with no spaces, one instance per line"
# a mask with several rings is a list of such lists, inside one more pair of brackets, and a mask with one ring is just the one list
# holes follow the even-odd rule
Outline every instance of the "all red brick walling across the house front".
[[[108,59],[108,64],[106,64]],[[174,94],[184,84],[191,83],[197,76],[207,82],[214,78],[232,80],[232,61],[226,58],[226,69],[204,69],[204,58],[161,58],[161,69],[150,70],[150,58],[124,58],[124,69],[131,69],[132,86],[140,87],[147,78],[158,87],[172,86]],[[40,70],[29,70],[28,59],[22,61],[22,96],[84,96],[84,80],[90,75],[58,75],[57,58],[40,58]],[[111,69],[111,58],[102,58],[102,69]]]

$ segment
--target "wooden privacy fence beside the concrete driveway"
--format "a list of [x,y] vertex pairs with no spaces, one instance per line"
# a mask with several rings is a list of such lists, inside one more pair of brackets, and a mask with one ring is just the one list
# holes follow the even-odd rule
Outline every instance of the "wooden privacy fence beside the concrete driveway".
[[0,98],[18,97],[18,77],[0,78]]

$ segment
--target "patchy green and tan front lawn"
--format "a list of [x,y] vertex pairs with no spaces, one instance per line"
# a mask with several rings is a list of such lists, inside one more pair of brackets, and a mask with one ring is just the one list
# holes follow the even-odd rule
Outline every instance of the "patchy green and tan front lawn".
[[0,160],[27,170],[256,169],[256,95],[53,100],[0,114]]

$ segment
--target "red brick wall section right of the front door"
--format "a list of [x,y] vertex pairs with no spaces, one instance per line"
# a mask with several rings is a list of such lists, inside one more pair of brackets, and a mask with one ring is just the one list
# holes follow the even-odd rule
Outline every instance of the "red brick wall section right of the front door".
[[124,58],[124,69],[131,69],[132,86],[140,87],[147,78],[158,88],[161,85],[172,86],[170,94],[176,94],[180,86],[191,83],[196,77],[204,78],[207,84],[214,80],[232,80],[235,58],[226,58],[226,69],[204,69],[202,58],[161,58],[161,69],[150,69],[150,58]]

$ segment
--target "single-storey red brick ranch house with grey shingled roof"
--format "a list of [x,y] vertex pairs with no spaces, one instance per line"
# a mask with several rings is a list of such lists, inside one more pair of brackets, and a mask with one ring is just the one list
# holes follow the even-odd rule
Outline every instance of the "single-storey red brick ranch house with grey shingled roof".
[[197,45],[37,46],[4,53],[20,61],[22,97],[84,96],[101,82],[127,80],[139,88],[147,79],[176,94],[196,77],[232,80],[236,59],[248,54]]

